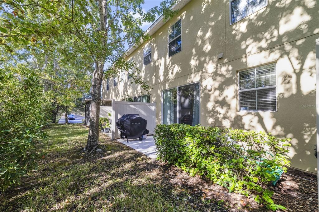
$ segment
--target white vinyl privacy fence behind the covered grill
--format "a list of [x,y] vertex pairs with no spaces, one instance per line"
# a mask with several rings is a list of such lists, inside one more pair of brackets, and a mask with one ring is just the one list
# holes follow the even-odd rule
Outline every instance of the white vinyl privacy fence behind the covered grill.
[[[111,117],[108,116],[111,113]],[[121,102],[112,100],[111,107],[101,107],[100,117],[106,117],[112,120],[112,140],[120,137],[120,132],[115,123],[124,114],[138,114],[140,117],[147,120],[146,128],[150,131],[149,135],[154,134],[155,129],[155,116],[156,116],[156,103],[146,102]]]

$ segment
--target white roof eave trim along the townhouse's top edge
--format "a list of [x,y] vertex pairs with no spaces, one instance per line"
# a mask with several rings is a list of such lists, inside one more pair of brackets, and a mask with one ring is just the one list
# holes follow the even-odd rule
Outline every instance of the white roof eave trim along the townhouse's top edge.
[[[180,10],[182,9],[187,3],[189,3],[190,0],[181,0],[178,3],[176,3],[174,6],[171,7],[172,10]],[[152,36],[159,28],[161,28],[167,21],[163,21],[163,15],[159,16],[156,21],[153,22],[153,24],[146,30],[146,32]],[[143,42],[143,40],[141,40]],[[134,52],[135,49],[137,49],[139,46],[132,45],[127,49],[128,55]],[[127,55],[127,56],[128,56]]]

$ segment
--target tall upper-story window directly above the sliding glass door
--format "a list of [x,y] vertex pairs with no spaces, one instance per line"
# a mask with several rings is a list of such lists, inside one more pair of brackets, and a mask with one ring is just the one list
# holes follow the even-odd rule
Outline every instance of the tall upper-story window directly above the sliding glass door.
[[168,30],[168,54],[173,56],[176,53],[182,51],[182,22],[179,19]]

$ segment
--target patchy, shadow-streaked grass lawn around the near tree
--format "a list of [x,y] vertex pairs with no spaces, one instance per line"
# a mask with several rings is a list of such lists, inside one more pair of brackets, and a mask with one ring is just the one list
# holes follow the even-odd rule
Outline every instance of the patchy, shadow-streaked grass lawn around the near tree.
[[1,195],[1,211],[226,211],[223,201],[174,183],[167,168],[100,135],[101,149],[83,152],[88,128],[50,124],[38,145],[39,169]]

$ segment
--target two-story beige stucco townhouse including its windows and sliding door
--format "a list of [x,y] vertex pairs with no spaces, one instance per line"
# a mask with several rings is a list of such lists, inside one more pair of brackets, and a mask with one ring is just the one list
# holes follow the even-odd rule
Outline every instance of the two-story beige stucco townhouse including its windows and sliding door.
[[103,81],[105,99],[156,102],[157,124],[201,124],[292,138],[292,166],[316,171],[316,0],[180,1],[178,14],[130,47],[152,86],[128,73]]

